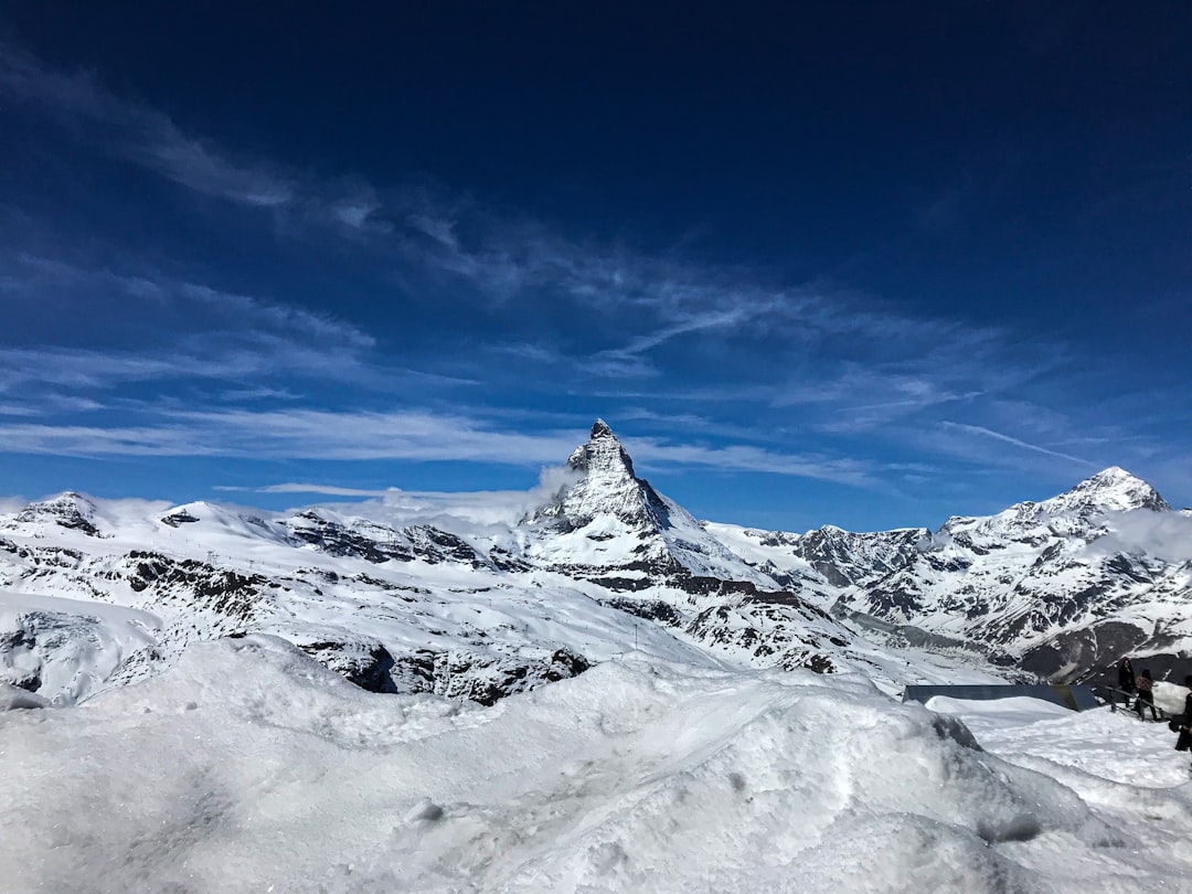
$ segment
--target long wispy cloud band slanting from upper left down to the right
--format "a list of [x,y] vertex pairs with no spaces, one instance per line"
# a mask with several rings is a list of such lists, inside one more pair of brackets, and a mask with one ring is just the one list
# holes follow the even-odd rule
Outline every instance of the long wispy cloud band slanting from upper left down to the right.
[[[595,378],[658,375],[657,349],[708,336],[787,339],[796,346],[856,339],[864,348],[902,340],[998,342],[977,331],[925,321],[859,296],[809,284],[759,284],[756,269],[647,256],[621,244],[563,236],[529,218],[496,215],[476,201],[427,185],[386,188],[343,175],[315,180],[266,159],[253,159],[187,134],[143,103],[118,97],[95,75],[55,69],[20,48],[0,52],[0,89],[80,129],[128,161],[197,192],[248,207],[285,212],[287,231],[309,221],[335,223],[377,236],[372,249],[390,265],[416,265],[458,278],[501,303],[572,305],[603,347],[565,350],[560,358]],[[150,288],[153,283],[124,283]],[[283,312],[273,305],[273,312]],[[309,321],[306,321],[309,322]],[[546,333],[544,342],[558,342]],[[498,335],[490,340],[496,346]],[[533,346],[533,342],[523,342]],[[909,348],[914,350],[914,348]]]

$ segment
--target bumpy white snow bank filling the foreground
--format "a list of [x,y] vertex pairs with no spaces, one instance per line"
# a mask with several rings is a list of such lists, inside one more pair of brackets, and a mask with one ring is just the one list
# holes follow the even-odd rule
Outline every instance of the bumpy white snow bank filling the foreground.
[[[483,708],[364,691],[273,637],[193,644],[166,673],[73,710],[0,714],[0,879],[55,892],[1192,890],[1192,786],[1161,725],[943,707],[987,750],[858,675],[627,656]],[[1094,745],[1105,759],[1072,758]]]

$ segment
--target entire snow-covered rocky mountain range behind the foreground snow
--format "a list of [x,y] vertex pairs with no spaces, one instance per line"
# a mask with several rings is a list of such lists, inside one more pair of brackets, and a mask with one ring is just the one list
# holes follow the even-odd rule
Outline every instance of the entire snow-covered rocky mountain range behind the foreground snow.
[[632,650],[896,689],[1068,682],[1128,652],[1162,670],[1192,642],[1192,550],[1167,548],[1192,542],[1192,517],[1119,468],[935,533],[806,534],[696,521],[601,421],[565,472],[485,523],[395,522],[384,503],[31,503],[0,515],[0,688],[73,703],[249,632],[375,691],[483,703]]

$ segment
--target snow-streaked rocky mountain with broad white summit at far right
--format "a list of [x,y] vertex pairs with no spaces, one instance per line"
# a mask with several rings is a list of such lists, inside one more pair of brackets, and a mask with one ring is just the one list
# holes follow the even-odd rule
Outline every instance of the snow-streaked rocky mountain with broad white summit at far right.
[[1039,503],[949,519],[901,567],[844,591],[839,606],[997,646],[1060,681],[1126,652],[1186,652],[1187,565],[1113,538],[1173,515],[1149,484],[1109,468]]

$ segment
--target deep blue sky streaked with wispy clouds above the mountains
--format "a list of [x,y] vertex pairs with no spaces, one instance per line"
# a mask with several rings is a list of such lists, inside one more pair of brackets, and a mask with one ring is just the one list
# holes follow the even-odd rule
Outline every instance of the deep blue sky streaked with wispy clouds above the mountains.
[[173,6],[0,12],[0,493],[1192,504],[1187,5]]

